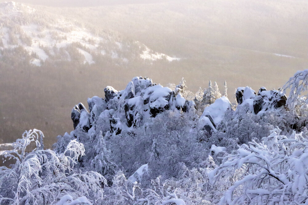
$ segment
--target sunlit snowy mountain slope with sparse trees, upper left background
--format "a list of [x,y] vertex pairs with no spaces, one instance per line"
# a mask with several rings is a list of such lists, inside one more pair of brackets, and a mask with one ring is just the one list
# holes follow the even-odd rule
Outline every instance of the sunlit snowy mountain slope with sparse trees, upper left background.
[[124,40],[114,33],[87,28],[84,23],[20,3],[1,3],[0,22],[0,49],[22,46],[37,66],[52,59],[93,64],[101,56],[124,64],[134,58],[179,60],[154,52],[139,41]]

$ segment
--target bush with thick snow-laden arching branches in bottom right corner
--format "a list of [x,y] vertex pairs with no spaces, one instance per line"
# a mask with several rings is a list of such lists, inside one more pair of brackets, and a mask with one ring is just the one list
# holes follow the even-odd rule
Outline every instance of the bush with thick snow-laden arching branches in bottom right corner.
[[[308,139],[302,133],[280,132],[276,128],[260,143],[243,144],[211,172],[212,183],[234,180],[221,204],[308,203]],[[239,169],[244,171],[235,177]]]

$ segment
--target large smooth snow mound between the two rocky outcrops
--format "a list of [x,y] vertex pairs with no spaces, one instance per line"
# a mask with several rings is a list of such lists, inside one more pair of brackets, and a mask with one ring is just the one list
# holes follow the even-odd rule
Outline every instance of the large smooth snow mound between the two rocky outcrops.
[[210,106],[206,107],[203,111],[202,116],[209,115],[213,118],[215,124],[219,124],[228,109],[232,109],[231,103],[227,97],[223,96],[221,98],[218,98]]

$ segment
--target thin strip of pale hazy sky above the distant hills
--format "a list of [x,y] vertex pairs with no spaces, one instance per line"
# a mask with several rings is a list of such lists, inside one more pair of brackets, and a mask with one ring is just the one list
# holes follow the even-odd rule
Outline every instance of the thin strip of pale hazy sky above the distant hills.
[[[6,2],[7,0],[0,0]],[[172,0],[16,0],[15,2],[28,3],[33,5],[75,7],[75,6],[103,6],[113,4],[146,4],[158,2],[170,2]]]

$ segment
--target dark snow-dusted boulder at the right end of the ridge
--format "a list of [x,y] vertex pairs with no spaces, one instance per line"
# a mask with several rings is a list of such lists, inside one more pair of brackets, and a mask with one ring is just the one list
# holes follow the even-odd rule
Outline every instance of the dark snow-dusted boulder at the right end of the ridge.
[[262,87],[258,95],[253,100],[253,110],[257,114],[261,110],[267,111],[270,109],[277,109],[286,105],[287,97],[281,91],[269,90]]

